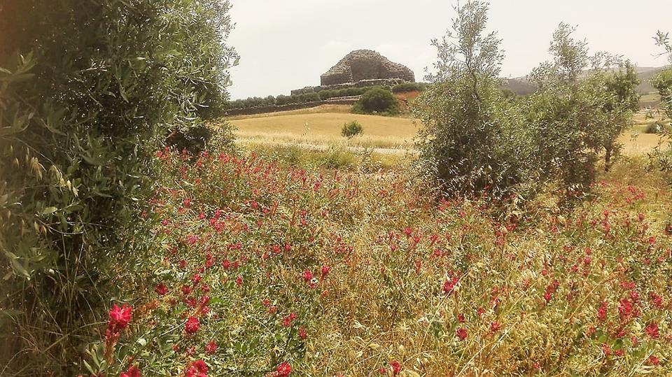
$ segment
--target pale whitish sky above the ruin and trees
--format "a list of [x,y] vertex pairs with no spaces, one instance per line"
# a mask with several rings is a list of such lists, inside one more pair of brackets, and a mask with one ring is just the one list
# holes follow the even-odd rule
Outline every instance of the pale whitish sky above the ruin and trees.
[[[231,69],[232,99],[290,94],[320,85],[320,75],[351,50],[370,49],[408,66],[421,81],[451,27],[451,0],[230,0],[240,55]],[[504,77],[525,76],[549,59],[560,22],[575,25],[591,52],[663,66],[653,36],[672,31],[672,0],[491,0],[488,27],[502,39]]]

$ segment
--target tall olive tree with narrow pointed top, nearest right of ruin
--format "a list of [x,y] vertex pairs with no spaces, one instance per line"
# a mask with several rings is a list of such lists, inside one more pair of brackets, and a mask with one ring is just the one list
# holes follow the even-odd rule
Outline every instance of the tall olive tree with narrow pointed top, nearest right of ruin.
[[456,9],[452,30],[433,41],[434,85],[416,101],[421,168],[449,195],[505,197],[525,191],[536,174],[531,135],[499,89],[503,53],[497,35],[486,33],[488,9],[483,1]]

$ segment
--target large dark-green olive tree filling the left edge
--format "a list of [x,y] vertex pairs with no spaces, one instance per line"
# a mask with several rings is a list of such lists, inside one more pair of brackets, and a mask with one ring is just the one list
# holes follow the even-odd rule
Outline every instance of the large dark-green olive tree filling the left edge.
[[195,127],[227,97],[228,8],[3,1],[0,374],[80,372],[103,331],[91,324],[118,297],[111,278],[148,247],[135,233],[153,153],[170,134],[179,148],[209,143]]

